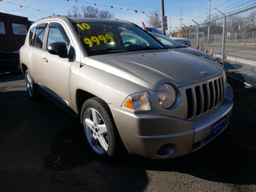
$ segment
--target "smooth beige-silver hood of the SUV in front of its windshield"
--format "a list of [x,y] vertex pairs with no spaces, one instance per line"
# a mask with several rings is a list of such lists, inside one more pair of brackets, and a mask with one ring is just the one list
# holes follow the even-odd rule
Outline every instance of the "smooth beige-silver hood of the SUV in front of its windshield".
[[218,63],[171,50],[92,56],[86,61],[86,65],[149,90],[157,90],[164,82],[180,87],[222,74],[222,66]]

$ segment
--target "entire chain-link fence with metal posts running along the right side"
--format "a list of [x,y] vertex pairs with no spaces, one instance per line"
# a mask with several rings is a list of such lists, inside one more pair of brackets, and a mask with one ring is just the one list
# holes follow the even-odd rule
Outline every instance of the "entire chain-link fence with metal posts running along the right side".
[[190,26],[182,36],[194,48],[212,53],[232,77],[256,87],[256,6]]

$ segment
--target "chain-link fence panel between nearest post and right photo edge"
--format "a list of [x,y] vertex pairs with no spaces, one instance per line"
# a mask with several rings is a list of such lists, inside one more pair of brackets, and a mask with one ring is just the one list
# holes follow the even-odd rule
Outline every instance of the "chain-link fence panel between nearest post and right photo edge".
[[235,78],[256,87],[256,10],[226,18],[225,68]]

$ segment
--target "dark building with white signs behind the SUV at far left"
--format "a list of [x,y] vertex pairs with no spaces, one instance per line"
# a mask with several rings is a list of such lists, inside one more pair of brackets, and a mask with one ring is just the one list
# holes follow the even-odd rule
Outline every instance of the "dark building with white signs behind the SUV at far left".
[[30,25],[28,18],[0,12],[0,50],[19,50],[24,44]]

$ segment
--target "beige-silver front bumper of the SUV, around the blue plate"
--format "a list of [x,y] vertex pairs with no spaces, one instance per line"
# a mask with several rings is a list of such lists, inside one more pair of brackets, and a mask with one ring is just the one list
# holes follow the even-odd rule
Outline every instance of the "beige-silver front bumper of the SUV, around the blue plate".
[[[222,105],[212,113],[193,121],[166,114],[131,114],[120,107],[110,110],[126,150],[146,158],[174,158],[190,154],[225,130],[233,108],[233,92],[229,86]],[[222,130],[211,136],[215,122],[225,118]]]

